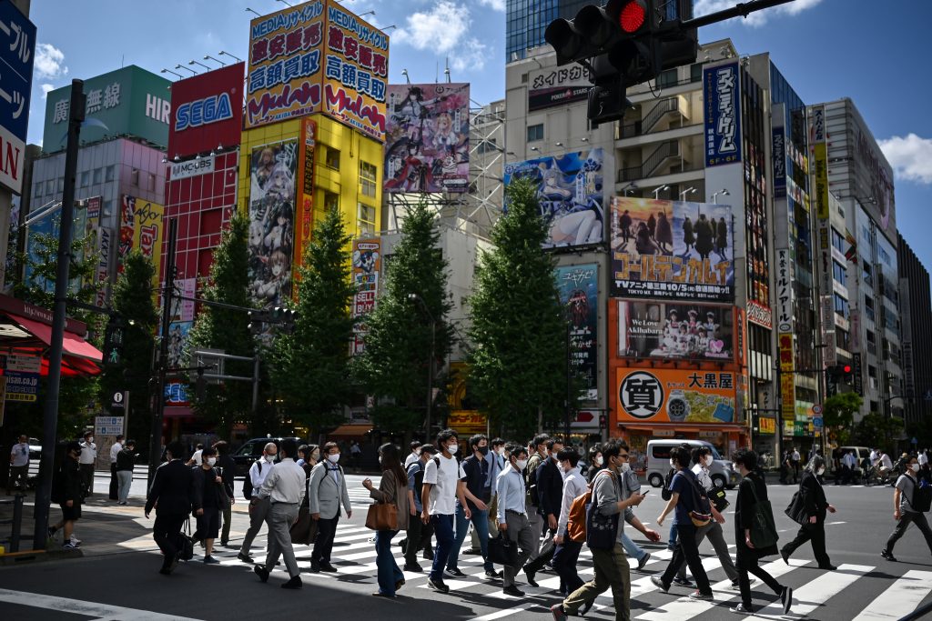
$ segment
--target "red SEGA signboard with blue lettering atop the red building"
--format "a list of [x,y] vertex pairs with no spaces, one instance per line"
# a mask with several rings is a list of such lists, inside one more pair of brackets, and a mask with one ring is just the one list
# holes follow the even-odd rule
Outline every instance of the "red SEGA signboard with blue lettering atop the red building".
[[240,144],[243,62],[171,85],[169,157],[209,153]]

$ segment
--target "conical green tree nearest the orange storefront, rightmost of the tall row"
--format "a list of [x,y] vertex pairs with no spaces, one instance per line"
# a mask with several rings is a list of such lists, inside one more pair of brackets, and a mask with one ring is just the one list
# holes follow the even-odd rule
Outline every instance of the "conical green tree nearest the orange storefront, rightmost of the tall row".
[[555,425],[566,398],[567,324],[534,188],[508,188],[470,297],[470,377],[492,429],[525,438]]

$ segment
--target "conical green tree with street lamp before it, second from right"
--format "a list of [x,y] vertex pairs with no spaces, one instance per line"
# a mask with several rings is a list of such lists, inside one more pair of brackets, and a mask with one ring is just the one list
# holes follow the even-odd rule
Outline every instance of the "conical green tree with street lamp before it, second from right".
[[[447,263],[437,247],[440,234],[434,224],[426,203],[409,209],[388,265],[383,294],[365,318],[365,351],[353,360],[366,394],[377,399],[373,422],[386,430],[424,427],[431,317],[436,320],[434,370],[442,367],[452,346],[453,329],[446,322],[452,308],[446,292]],[[412,293],[423,304],[410,299]],[[433,386],[444,383],[442,373],[434,372]],[[433,426],[439,424],[439,412],[436,408],[432,412]]]

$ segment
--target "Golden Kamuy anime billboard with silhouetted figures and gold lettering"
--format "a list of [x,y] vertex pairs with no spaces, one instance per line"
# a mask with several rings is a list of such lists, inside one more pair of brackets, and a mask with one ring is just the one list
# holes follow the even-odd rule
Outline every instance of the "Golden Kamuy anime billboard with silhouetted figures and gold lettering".
[[611,199],[611,295],[734,301],[730,205]]

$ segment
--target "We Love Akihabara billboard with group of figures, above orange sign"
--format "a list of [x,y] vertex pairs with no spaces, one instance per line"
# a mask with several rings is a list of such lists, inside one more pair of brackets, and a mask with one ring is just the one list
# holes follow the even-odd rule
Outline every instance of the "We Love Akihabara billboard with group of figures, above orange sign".
[[734,361],[732,306],[618,301],[618,355]]

